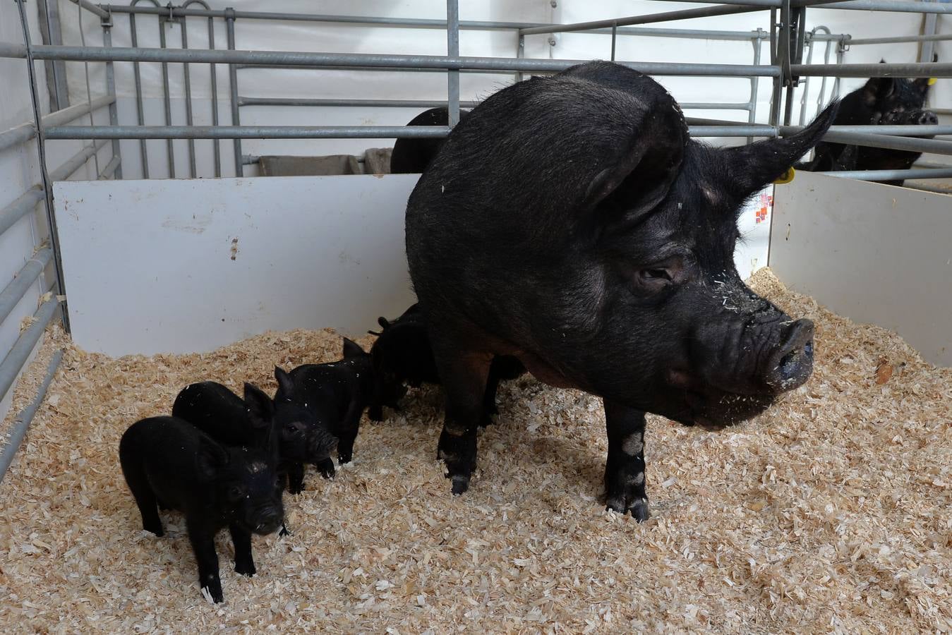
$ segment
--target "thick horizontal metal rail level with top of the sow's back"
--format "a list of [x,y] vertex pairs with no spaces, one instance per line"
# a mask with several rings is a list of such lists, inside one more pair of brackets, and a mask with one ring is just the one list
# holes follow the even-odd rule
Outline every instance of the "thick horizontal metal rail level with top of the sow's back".
[[[69,59],[75,61],[106,62],[204,62],[215,64],[253,64],[253,65],[280,65],[281,67],[299,66],[339,66],[339,67],[367,67],[367,68],[400,68],[400,69],[475,69],[501,70],[512,72],[525,71],[553,71],[565,70],[576,64],[584,64],[590,60],[554,60],[554,59],[513,59],[508,57],[447,57],[444,55],[391,55],[376,53],[324,53],[282,50],[182,50],[182,49],[137,49],[103,47],[34,47],[36,59]],[[5,46],[0,44],[0,57],[5,57]],[[753,66],[745,64],[682,64],[661,62],[619,62],[633,69],[642,70],[648,74],[658,75],[704,75],[723,77],[747,77],[759,75],[761,77],[775,77],[780,74],[779,69],[768,66]],[[879,67],[879,76],[888,75],[890,71],[906,72],[909,69],[920,69],[922,76],[952,76],[952,64],[855,64],[847,68],[869,69]],[[823,67],[807,67],[816,69],[814,74],[829,71]],[[938,70],[945,75],[935,75]],[[930,74],[932,73],[932,74]],[[799,74],[806,74],[805,72]],[[864,76],[864,75],[857,75]],[[872,75],[870,75],[872,76]],[[904,75],[904,76],[909,76]]]

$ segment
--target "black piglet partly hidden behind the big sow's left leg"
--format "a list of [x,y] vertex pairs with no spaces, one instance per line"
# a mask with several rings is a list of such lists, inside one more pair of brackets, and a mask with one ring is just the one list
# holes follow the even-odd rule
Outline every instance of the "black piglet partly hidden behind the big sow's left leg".
[[[381,317],[378,324],[382,330],[374,333],[378,337],[370,347],[378,395],[378,399],[367,410],[367,416],[373,421],[383,420],[383,406],[398,407],[397,402],[407,391],[405,384],[411,387],[440,384],[426,322],[419,305],[407,308],[403,315],[392,322]],[[499,382],[515,379],[525,372],[526,367],[514,357],[501,355],[493,358],[486,379],[481,426],[491,423],[492,415],[499,412],[496,407]]]

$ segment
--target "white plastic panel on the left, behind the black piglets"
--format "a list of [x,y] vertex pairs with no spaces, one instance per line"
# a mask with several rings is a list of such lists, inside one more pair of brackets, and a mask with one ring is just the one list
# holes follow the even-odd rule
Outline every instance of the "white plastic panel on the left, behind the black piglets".
[[413,302],[404,211],[416,179],[58,183],[73,340],[150,355],[269,329],[364,333]]

